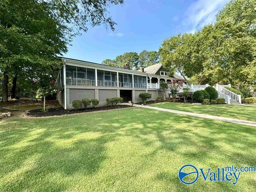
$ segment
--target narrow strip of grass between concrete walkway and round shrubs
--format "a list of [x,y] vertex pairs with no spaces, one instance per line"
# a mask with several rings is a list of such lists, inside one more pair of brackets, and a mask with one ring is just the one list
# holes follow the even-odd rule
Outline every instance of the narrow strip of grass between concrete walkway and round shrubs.
[[192,105],[184,103],[164,102],[151,106],[180,111],[203,113],[208,115],[256,121],[256,105]]

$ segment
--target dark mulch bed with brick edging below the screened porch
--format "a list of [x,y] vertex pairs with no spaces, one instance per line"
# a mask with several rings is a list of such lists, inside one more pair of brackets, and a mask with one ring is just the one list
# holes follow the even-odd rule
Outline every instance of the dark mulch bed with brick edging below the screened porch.
[[120,109],[120,108],[128,108],[128,107],[132,107],[132,106],[117,105],[117,106],[86,108],[86,109],[79,109],[79,110],[74,110],[74,109],[64,110],[63,107],[58,107],[58,108],[48,108],[47,112],[43,112],[42,109],[34,109],[34,110],[28,111],[26,113],[26,116],[30,116],[30,117],[60,116],[60,115],[68,115],[68,114],[75,114],[75,113],[95,112],[95,111]]

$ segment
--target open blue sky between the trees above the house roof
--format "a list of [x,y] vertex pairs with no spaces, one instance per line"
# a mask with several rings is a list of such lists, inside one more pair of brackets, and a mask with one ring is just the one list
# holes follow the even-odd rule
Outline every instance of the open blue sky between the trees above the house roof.
[[89,27],[74,38],[65,57],[101,63],[125,52],[157,51],[164,39],[195,32],[215,21],[228,0],[124,0],[111,6],[117,23],[114,32],[105,26]]

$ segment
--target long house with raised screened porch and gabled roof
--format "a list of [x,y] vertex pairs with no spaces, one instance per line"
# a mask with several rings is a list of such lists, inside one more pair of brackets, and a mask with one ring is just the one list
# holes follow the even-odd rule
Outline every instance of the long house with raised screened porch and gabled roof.
[[[169,76],[161,64],[155,64],[140,70],[128,70],[93,62],[60,57],[64,66],[57,78],[57,97],[65,109],[71,109],[73,100],[85,98],[99,100],[99,106],[106,105],[106,98],[122,97],[124,102],[141,102],[140,93],[164,97],[159,89],[160,82],[182,82],[184,78],[175,74]],[[165,92],[168,97],[168,91]]]

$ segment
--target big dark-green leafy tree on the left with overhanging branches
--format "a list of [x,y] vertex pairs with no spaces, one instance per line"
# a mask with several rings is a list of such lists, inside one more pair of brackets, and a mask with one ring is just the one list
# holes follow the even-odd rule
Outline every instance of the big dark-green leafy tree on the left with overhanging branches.
[[[0,2],[0,72],[2,101],[8,101],[8,81],[49,68],[67,44],[88,25],[116,24],[107,8],[123,0],[2,0]],[[13,91],[15,89],[13,88]]]

